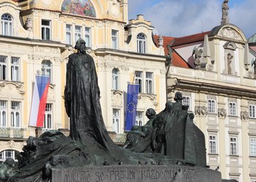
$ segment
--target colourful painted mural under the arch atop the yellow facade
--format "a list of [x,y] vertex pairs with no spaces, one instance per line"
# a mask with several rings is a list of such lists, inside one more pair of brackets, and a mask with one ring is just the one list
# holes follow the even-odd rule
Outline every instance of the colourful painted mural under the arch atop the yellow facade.
[[75,15],[96,17],[95,9],[89,0],[64,0],[61,11]]

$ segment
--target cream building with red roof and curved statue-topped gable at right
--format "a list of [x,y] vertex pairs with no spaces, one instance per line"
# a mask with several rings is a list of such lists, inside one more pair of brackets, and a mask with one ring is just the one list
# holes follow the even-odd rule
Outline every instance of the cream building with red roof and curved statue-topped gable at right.
[[236,25],[222,23],[204,33],[162,38],[168,56],[167,100],[182,92],[205,134],[207,164],[224,179],[256,181],[253,37],[247,41]]

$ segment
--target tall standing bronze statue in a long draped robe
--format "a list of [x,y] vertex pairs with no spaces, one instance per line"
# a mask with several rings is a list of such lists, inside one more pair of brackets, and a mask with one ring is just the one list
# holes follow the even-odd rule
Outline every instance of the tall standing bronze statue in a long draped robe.
[[85,145],[95,141],[108,149],[108,132],[102,119],[94,59],[86,54],[86,42],[78,39],[77,53],[69,55],[65,107],[70,118],[70,137]]

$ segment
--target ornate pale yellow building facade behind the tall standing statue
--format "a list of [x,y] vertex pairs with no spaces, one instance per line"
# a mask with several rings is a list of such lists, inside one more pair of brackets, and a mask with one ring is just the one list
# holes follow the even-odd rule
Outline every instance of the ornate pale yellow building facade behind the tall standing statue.
[[[94,58],[102,115],[114,141],[124,141],[128,83],[140,84],[137,124],[146,123],[148,108],[164,108],[164,48],[154,44],[153,26],[143,15],[128,20],[127,0],[6,0],[0,17],[1,162],[15,159],[30,135],[69,128],[66,65],[79,38]],[[50,76],[43,128],[29,127],[38,74]]]

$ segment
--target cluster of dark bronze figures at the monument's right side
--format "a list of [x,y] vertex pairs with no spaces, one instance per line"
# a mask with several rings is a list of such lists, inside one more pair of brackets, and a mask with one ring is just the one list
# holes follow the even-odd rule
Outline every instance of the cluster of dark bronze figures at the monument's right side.
[[148,122],[132,127],[124,149],[138,153],[156,152],[191,165],[206,167],[203,132],[193,124],[195,115],[187,112],[189,106],[182,105],[182,99],[181,92],[176,92],[176,102],[168,101],[159,114],[153,108],[148,108]]

